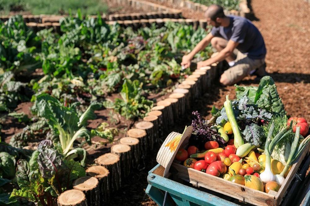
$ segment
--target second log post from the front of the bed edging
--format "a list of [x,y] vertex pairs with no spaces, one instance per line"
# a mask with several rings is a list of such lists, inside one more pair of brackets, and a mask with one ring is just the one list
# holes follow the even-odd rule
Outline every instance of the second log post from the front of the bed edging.
[[80,177],[73,181],[73,188],[83,191],[87,204],[96,205],[100,201],[99,181],[95,177]]

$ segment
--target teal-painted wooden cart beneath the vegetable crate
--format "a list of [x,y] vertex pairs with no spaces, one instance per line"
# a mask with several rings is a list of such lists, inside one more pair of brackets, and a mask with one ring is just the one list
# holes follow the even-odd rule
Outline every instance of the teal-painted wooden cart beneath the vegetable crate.
[[[300,167],[293,175],[292,182],[284,191],[281,206],[289,205],[310,205],[310,174],[306,174],[310,165],[310,156],[306,155],[300,162]],[[243,201],[236,198],[220,194],[214,190],[209,190],[194,186],[192,183],[183,181],[177,175],[170,175],[169,178],[163,178],[164,168],[161,165],[155,166],[148,174],[148,187],[146,194],[149,195],[158,205],[163,205],[165,191],[167,192],[166,206],[170,205],[251,205],[244,204]],[[170,172],[174,173],[173,169]],[[267,194],[267,193],[266,193]],[[270,202],[273,204],[273,202]],[[255,204],[257,205],[257,204]]]

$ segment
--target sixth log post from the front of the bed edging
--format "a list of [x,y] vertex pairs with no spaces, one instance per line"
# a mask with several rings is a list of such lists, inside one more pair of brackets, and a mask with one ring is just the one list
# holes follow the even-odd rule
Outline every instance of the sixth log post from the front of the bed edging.
[[123,137],[122,139],[119,140],[119,143],[130,146],[132,168],[135,168],[135,166],[139,165],[139,161],[141,158],[139,139],[134,138],[134,137]]

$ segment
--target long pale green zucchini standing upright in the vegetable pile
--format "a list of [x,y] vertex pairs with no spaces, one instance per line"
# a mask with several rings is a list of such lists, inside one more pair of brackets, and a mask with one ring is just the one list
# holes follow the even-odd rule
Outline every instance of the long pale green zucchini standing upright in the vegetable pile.
[[233,111],[232,111],[232,103],[228,97],[229,97],[229,95],[226,95],[226,101],[224,102],[224,107],[226,110],[228,120],[232,126],[232,132],[234,135],[234,145],[236,148],[238,148],[242,144],[244,144],[244,141],[243,141],[243,138],[241,136],[241,132],[239,130],[237,120],[236,120],[235,115],[233,114]]

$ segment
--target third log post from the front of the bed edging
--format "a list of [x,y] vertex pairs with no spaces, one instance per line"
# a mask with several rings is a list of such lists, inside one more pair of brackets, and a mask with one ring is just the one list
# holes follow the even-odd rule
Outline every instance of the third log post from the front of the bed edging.
[[86,174],[95,177],[99,181],[100,203],[107,203],[110,195],[109,175],[110,172],[104,166],[91,166],[86,169]]

